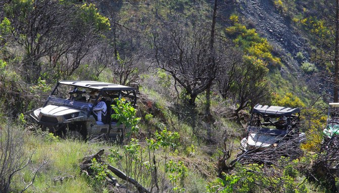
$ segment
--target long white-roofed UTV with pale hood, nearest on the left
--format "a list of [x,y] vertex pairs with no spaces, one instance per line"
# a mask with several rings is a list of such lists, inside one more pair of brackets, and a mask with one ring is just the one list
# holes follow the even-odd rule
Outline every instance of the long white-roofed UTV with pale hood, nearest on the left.
[[[91,101],[89,93],[93,91],[99,94]],[[102,135],[122,139],[126,128],[117,126],[116,121],[111,119],[111,105],[117,98],[125,98],[136,107],[137,96],[132,87],[98,81],[62,80],[57,83],[43,107],[36,109],[30,116],[43,130],[49,129],[58,135],[83,139]],[[99,99],[107,105],[103,125],[96,124],[92,114],[94,104]]]

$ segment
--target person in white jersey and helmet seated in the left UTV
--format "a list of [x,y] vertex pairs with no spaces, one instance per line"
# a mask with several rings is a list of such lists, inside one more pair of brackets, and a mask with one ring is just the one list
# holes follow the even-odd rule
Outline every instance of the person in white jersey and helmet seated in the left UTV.
[[[96,124],[98,125],[103,125],[105,124],[103,122],[103,120],[106,119],[106,115],[107,115],[107,105],[104,101],[102,101],[102,97],[99,96],[99,91],[91,91],[90,93],[90,103],[93,103],[93,105],[95,105],[95,107],[93,108],[92,112],[94,114],[95,120],[96,120]],[[95,103],[95,100],[98,98],[98,100]]]

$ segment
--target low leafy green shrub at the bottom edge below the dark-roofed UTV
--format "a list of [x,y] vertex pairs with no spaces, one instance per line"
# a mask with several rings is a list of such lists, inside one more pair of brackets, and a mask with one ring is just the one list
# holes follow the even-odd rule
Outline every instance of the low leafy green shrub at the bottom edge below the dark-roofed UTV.
[[[304,179],[299,179],[298,161],[281,158],[269,168],[252,164],[236,166],[232,174],[223,173],[207,186],[208,192],[307,192]],[[264,168],[265,167],[265,168]]]

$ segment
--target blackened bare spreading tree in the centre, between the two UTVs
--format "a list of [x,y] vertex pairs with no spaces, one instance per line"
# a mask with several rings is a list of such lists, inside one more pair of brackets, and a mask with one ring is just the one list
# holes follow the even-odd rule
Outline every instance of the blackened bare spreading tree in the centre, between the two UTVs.
[[211,31],[204,25],[191,30],[179,23],[164,22],[153,30],[154,56],[158,66],[174,78],[175,86],[187,93],[188,104],[195,107],[198,94],[212,84],[215,65],[222,57],[211,60]]

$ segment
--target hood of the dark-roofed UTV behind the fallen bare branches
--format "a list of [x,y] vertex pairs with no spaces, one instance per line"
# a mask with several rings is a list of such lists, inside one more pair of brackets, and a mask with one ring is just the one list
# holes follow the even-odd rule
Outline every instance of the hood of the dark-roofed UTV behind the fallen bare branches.
[[249,146],[254,146],[257,148],[267,148],[271,144],[278,142],[278,140],[282,139],[282,136],[279,135],[270,135],[270,134],[262,134],[262,133],[250,133],[248,136],[248,144]]

